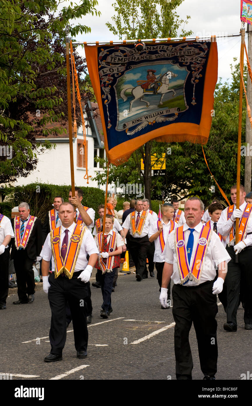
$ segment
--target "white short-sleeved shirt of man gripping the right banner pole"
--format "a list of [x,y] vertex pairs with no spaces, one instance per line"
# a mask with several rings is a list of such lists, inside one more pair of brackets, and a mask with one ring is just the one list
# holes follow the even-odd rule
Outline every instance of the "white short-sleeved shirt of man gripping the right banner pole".
[[[247,203],[244,202],[242,203],[242,205],[240,205],[240,209],[243,212],[243,210],[245,209]],[[234,205],[234,210],[236,209],[236,205]],[[227,211],[228,211],[228,207],[226,207],[226,209],[224,209],[220,215],[220,218],[218,220],[217,223],[217,229],[218,232],[221,235],[227,235],[226,238],[226,244],[229,244],[229,231],[231,230],[231,228],[233,227],[234,222],[231,220],[231,218],[229,220],[227,220]],[[246,233],[244,234],[243,241],[245,242],[245,244],[247,246],[252,245],[252,234],[247,235],[247,233],[251,233],[252,232],[252,216],[250,215],[249,219],[248,219],[248,226],[246,229]],[[231,241],[230,243],[231,246],[235,245],[235,239],[233,241]]]

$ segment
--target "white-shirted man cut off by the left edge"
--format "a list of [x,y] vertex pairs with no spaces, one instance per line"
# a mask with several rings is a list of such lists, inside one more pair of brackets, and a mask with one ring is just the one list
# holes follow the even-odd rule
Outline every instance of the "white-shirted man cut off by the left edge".
[[0,310],[6,309],[6,298],[9,292],[9,259],[8,244],[14,238],[11,221],[0,214]]

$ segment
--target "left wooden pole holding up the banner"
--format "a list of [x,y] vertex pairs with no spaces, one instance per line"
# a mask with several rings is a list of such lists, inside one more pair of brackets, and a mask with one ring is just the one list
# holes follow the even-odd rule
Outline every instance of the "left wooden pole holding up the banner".
[[[75,197],[75,173],[73,164],[73,127],[72,127],[72,106],[71,106],[71,88],[70,88],[70,60],[69,60],[69,38],[68,28],[66,32],[66,84],[67,84],[67,109],[68,109],[68,134],[70,151],[70,171],[72,197]],[[76,218],[75,218],[76,223]]]

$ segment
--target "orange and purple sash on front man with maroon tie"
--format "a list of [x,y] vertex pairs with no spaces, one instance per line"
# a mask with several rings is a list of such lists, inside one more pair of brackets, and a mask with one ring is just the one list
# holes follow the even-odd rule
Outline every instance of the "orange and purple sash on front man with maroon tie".
[[64,261],[60,253],[61,227],[62,226],[57,227],[56,229],[50,232],[51,249],[55,263],[54,276],[55,278],[57,278],[62,272],[64,272],[66,276],[69,279],[71,279],[75,270],[76,261],[81,248],[83,235],[87,230],[87,227],[83,227],[82,224],[77,224],[75,226],[75,229],[73,230],[73,233],[70,237],[70,243],[68,244],[66,257]]

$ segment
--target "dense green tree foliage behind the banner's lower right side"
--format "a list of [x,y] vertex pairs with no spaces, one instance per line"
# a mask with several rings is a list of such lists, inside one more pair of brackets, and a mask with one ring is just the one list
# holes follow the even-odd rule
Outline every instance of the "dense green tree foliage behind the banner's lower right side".
[[[236,60],[236,59],[234,59]],[[237,136],[239,115],[239,64],[231,66],[232,80],[218,82],[215,90],[214,117],[211,131],[204,152],[209,168],[218,181],[220,187],[229,196],[230,187],[236,183],[237,170]],[[244,82],[246,85],[246,69],[244,69]],[[246,131],[246,102],[243,98],[242,141],[245,145]],[[201,145],[192,143],[154,143],[152,152],[160,156],[170,148],[166,155],[166,177],[152,177],[151,197],[160,199],[161,190],[165,192],[165,199],[176,195],[182,197],[199,196],[208,205],[214,197],[223,199],[217,185],[212,179],[206,166]],[[126,164],[110,167],[109,183],[117,181],[120,184],[141,183],[139,176],[139,162],[143,153],[141,147],[135,151]],[[248,151],[247,151],[248,153]],[[241,156],[241,183],[244,182],[245,158]],[[105,183],[106,174],[96,176],[102,184]],[[211,188],[214,186],[215,190]],[[146,195],[146,193],[145,193]]]

